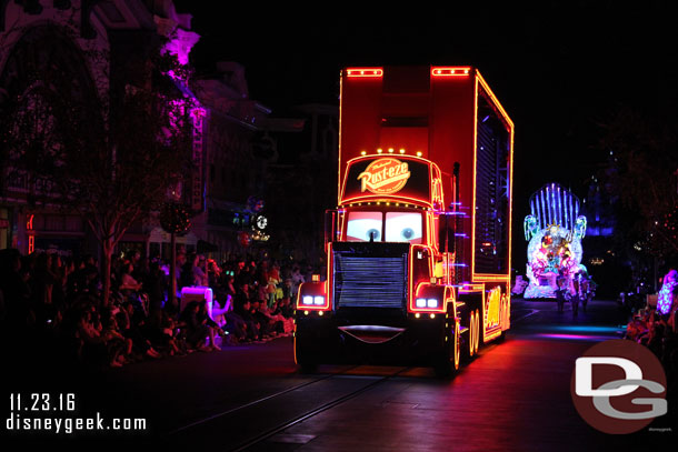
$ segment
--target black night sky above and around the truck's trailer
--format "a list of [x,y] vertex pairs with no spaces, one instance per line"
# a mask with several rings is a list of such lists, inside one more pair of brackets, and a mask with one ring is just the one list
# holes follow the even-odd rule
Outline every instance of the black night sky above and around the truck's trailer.
[[347,66],[477,67],[516,125],[520,220],[527,198],[544,183],[586,194],[587,178],[606,158],[596,149],[597,124],[610,113],[622,106],[670,110],[677,100],[678,11],[661,2],[545,1],[503,9],[447,2],[445,10],[383,3],[381,11],[343,2],[296,10],[292,3],[229,2],[222,10],[213,2],[175,3],[193,14],[202,37],[191,54],[198,72],[213,71],[219,60],[242,63],[250,98],[273,115],[303,102],[337,103],[339,71]]

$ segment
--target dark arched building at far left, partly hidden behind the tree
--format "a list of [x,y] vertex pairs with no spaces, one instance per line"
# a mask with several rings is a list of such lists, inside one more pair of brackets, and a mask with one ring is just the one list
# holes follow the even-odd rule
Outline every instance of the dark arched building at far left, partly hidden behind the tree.
[[[0,109],[13,102],[18,114],[33,112],[67,96],[110,106],[128,83],[143,83],[127,62],[148,58],[159,39],[173,31],[168,50],[179,59],[188,54],[199,38],[190,31],[190,14],[177,13],[171,0],[2,1]],[[92,114],[106,120],[108,112],[92,109]],[[0,158],[0,248],[23,253],[98,251],[86,219],[50,200],[50,180],[37,178],[31,168],[16,168],[11,149]],[[146,224],[132,227],[124,241],[143,240],[147,232]]]

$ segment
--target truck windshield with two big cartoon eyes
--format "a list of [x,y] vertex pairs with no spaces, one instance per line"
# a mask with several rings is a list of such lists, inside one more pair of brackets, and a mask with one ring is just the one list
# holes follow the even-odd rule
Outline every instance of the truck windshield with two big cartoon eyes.
[[346,240],[421,243],[422,231],[419,212],[386,212],[386,224],[382,212],[349,212]]

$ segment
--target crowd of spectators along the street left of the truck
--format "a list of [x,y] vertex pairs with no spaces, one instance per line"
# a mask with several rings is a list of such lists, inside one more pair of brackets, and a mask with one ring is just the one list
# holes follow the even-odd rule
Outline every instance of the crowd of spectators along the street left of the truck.
[[[23,353],[48,345],[60,362],[86,366],[118,368],[263,343],[291,335],[292,300],[310,271],[266,260],[219,265],[201,254],[179,253],[172,303],[169,265],[136,252],[113,258],[109,302],[103,304],[94,257],[1,250],[0,331],[6,343]],[[212,304],[181,302],[183,287],[210,288]]]

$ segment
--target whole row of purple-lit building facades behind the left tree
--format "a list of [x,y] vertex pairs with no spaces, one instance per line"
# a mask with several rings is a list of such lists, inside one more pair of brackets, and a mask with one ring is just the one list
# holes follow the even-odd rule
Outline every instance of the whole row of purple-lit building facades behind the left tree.
[[[1,1],[0,109],[13,99],[27,99],[33,108],[42,100],[39,93],[59,99],[66,91],[107,104],[121,87],[143,83],[126,72],[126,61],[148,58],[149,49],[164,40],[162,49],[187,64],[199,38],[191,31],[191,16],[177,12],[171,0]],[[276,144],[262,129],[270,110],[249,99],[245,69],[232,62],[217,69],[213,78],[173,77],[177,89],[199,104],[193,169],[175,199],[193,214],[178,245],[225,260],[247,250],[241,239],[243,233],[251,239],[250,204],[262,199]],[[0,155],[0,248],[98,253],[87,220],[50,202],[50,181],[13,168],[10,154]],[[157,217],[133,224],[118,251],[169,257],[170,238]]]

